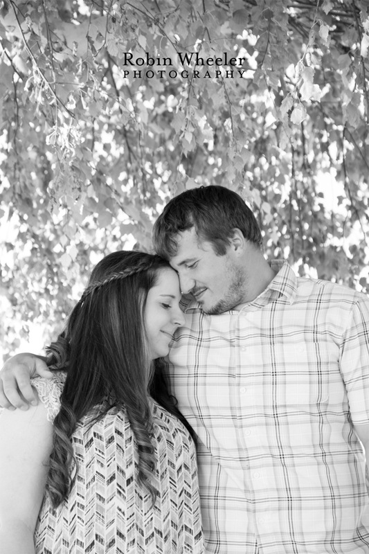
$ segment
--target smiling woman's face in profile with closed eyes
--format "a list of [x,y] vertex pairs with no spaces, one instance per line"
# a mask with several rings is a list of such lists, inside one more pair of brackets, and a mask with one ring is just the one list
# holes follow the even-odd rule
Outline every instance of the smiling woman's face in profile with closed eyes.
[[161,269],[156,285],[147,294],[145,307],[145,329],[152,359],[168,354],[174,331],[184,323],[180,300],[177,273],[170,267]]

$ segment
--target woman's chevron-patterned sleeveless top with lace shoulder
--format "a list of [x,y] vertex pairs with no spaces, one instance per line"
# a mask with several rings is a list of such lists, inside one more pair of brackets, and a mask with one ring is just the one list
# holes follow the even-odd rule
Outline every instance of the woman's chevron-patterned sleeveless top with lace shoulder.
[[[64,374],[33,379],[48,420],[60,409]],[[84,418],[73,434],[78,474],[69,497],[53,510],[45,496],[35,530],[36,554],[204,553],[195,445],[185,427],[153,404],[157,454],[152,499],[137,482],[138,456],[124,410]]]

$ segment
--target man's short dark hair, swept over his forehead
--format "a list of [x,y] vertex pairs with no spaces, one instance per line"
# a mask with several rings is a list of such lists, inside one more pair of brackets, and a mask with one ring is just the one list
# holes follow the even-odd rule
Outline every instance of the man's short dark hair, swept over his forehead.
[[199,242],[213,244],[217,256],[224,256],[234,230],[261,249],[262,234],[252,211],[240,195],[224,186],[201,186],[172,198],[154,224],[156,253],[170,260],[177,253],[177,235],[195,227]]

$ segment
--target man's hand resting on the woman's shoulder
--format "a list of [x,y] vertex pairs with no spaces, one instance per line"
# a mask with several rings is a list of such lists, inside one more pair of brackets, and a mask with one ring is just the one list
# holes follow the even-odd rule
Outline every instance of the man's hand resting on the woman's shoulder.
[[6,361],[0,371],[0,406],[9,410],[28,410],[29,404],[37,406],[37,394],[30,384],[31,377],[50,379],[46,358],[28,352],[17,354]]

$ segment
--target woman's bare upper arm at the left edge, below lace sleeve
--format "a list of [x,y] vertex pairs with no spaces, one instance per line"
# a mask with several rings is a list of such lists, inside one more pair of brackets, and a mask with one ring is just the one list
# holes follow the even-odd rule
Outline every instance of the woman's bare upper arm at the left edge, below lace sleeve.
[[33,534],[41,508],[53,424],[42,402],[0,415],[0,552],[35,554]]

